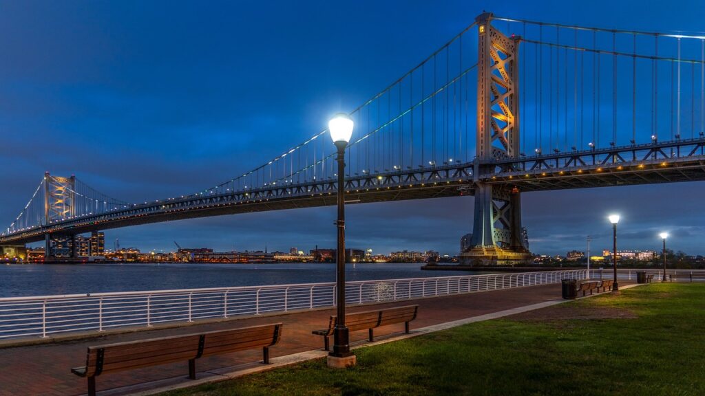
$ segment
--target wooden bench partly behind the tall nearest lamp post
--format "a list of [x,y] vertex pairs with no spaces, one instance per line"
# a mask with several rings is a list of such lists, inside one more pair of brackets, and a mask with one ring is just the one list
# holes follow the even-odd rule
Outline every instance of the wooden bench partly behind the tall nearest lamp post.
[[[416,318],[418,310],[418,305],[406,305],[404,307],[345,314],[345,327],[347,327],[351,332],[368,330],[369,341],[374,342],[374,329],[380,326],[387,326],[394,323],[404,323],[404,332],[408,334],[409,322]],[[328,328],[324,328],[323,330],[314,330],[311,332],[314,335],[323,336],[324,349],[326,349],[326,351],[330,350],[330,337],[333,335],[333,330],[336,328],[336,321],[337,316],[331,315]]]

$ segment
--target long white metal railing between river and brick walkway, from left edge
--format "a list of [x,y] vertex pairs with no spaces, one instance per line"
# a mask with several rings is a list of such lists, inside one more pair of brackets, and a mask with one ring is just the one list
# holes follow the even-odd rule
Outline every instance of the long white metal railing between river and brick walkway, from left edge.
[[[586,273],[570,270],[367,280],[348,282],[345,298],[348,305],[391,302],[558,283],[561,279],[584,279]],[[333,307],[335,296],[335,283],[308,283],[0,298],[0,339]]]

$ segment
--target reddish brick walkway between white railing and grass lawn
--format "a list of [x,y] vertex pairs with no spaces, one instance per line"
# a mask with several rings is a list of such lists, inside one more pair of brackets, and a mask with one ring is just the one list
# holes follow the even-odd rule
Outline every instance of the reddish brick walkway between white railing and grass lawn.
[[[418,318],[412,322],[411,326],[413,330],[413,328],[431,326],[555,299],[560,299],[560,284],[416,299],[412,300],[412,302],[378,304],[374,307],[419,304]],[[367,309],[371,308],[369,306],[352,307],[348,308],[348,311],[364,311]],[[305,311],[295,314],[244,318],[182,328],[106,335],[99,339],[92,338],[90,340],[74,340],[46,345],[0,349],[0,367],[2,367],[0,370],[0,395],[73,396],[85,394],[87,392],[85,378],[73,375],[71,367],[84,364],[86,347],[89,345],[198,333],[201,331],[281,321],[284,323],[283,335],[281,342],[271,349],[272,357],[319,349],[322,348],[323,340],[319,336],[312,335],[311,330],[325,328],[331,314],[334,314],[333,309]],[[403,331],[403,324],[386,326],[376,331],[375,335],[384,336],[400,331]],[[352,333],[350,335],[351,342],[364,340],[366,336],[366,331]],[[262,359],[262,354],[259,350],[205,357],[197,361],[197,371],[204,372],[238,364],[252,363],[259,359]],[[97,377],[97,389],[100,394],[101,390],[122,388],[127,385],[187,375],[188,365],[184,361],[182,364],[168,364],[99,376]],[[111,394],[113,393],[111,392]]]

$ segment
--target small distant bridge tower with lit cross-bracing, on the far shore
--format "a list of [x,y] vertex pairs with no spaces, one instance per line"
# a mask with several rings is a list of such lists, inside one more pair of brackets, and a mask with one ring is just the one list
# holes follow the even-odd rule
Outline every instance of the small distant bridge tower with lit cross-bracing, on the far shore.
[[[52,221],[71,218],[76,214],[75,207],[76,178],[51,176],[44,173],[44,225]],[[45,257],[75,257],[75,235],[45,235]]]

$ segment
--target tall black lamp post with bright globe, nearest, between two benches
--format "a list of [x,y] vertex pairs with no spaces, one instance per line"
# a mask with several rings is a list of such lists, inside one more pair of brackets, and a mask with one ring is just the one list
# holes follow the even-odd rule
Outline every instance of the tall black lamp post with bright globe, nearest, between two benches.
[[350,352],[349,331],[345,327],[345,147],[353,136],[353,119],[338,113],[328,123],[331,139],[338,148],[338,250],[336,252],[336,295],[338,320],[333,329],[333,351],[328,355],[328,366],[345,368],[355,365],[355,354]]

